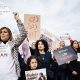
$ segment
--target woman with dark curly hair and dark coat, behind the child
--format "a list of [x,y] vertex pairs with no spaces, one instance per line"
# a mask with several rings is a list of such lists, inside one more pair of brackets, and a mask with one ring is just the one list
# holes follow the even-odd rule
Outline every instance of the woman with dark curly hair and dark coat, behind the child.
[[36,41],[36,51],[35,56],[38,57],[40,61],[40,67],[47,69],[47,78],[48,80],[54,80],[54,68],[55,62],[51,57],[51,53],[48,52],[48,43],[46,40],[37,40]]

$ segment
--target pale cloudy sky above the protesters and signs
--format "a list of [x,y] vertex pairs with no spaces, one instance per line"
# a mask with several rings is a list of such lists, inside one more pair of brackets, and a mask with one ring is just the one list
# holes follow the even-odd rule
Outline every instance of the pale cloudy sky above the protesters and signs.
[[41,16],[41,28],[80,41],[80,0],[0,0],[10,10]]

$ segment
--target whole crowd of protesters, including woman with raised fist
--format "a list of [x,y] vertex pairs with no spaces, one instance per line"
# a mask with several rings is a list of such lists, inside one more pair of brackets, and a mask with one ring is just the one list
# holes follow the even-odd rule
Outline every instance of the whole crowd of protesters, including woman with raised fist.
[[[80,80],[80,62],[68,61],[58,65],[56,57],[52,56],[48,42],[44,39],[33,42],[30,47],[31,56],[24,62],[18,47],[26,38],[26,31],[19,15],[14,13],[14,18],[20,31],[16,40],[12,38],[11,30],[7,27],[0,29],[0,80],[26,80],[25,71],[46,68],[47,80]],[[70,46],[75,54],[80,53],[77,40],[70,40]],[[60,50],[65,47],[65,42],[60,41]],[[54,53],[53,53],[54,54]],[[40,80],[46,80],[45,78]]]

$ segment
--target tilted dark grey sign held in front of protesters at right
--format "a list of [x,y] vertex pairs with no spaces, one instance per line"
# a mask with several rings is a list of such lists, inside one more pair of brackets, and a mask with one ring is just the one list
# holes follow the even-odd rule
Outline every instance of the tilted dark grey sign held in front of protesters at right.
[[58,51],[53,51],[53,54],[58,62],[58,65],[62,65],[68,61],[73,61],[77,59],[77,55],[71,46],[67,46]]

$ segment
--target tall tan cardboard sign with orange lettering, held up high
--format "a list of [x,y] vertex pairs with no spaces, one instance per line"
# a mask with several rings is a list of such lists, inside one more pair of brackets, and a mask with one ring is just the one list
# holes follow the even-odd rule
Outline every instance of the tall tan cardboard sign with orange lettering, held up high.
[[29,42],[40,38],[40,15],[24,15],[24,25],[28,31]]

